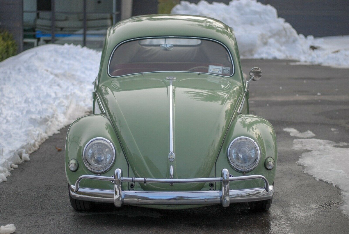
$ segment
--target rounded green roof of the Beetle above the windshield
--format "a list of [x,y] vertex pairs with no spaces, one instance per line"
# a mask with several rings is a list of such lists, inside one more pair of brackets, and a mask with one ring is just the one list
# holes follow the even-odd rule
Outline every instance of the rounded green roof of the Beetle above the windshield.
[[109,52],[122,41],[139,37],[188,36],[211,38],[233,50],[235,36],[223,22],[198,15],[140,15],[122,20],[107,31],[106,50]]

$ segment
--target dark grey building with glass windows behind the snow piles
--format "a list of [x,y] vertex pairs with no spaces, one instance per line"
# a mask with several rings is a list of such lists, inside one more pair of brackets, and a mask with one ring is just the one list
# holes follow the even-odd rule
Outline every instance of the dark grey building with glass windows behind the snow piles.
[[[188,1],[198,3],[200,0]],[[230,2],[230,0],[207,0],[209,3],[214,1],[225,4]],[[289,22],[299,34],[313,35],[314,37],[349,35],[349,0],[258,1],[275,7],[279,17]],[[74,30],[77,32],[75,39],[79,33],[81,36],[81,40],[79,39],[81,42],[78,40],[77,43],[87,45],[86,41],[89,39],[98,39],[97,35],[89,36],[87,34],[89,30],[101,29],[96,28],[96,24],[101,23],[102,20],[107,23],[105,23],[105,26],[101,23],[100,27],[106,28],[110,24],[108,23],[109,16],[105,16],[105,14],[110,15],[113,24],[131,15],[156,14],[157,3],[157,0],[0,0],[0,28],[5,28],[13,34],[18,43],[18,52],[23,51],[23,38],[27,42],[38,43],[52,40],[57,43],[55,40],[58,37],[64,37]],[[47,17],[52,9],[56,12],[54,15],[57,15],[57,17],[54,15]],[[44,20],[51,20],[46,25],[40,24],[42,22],[44,24],[44,20],[38,20],[40,11],[45,13],[42,13]],[[74,13],[76,13],[75,16]],[[98,14],[100,16],[104,14],[104,18],[97,19],[96,15]],[[68,21],[70,18],[74,18],[75,21],[61,22],[64,17],[68,18]],[[68,30],[67,33],[63,27],[67,24],[69,26],[76,24],[76,26],[73,29],[70,28],[71,30]],[[37,34],[37,31],[42,31],[38,30],[40,27],[46,29],[43,32],[44,36]],[[100,33],[102,35],[103,31],[100,31]],[[70,37],[70,39],[72,38]],[[64,43],[64,40],[61,43]]]

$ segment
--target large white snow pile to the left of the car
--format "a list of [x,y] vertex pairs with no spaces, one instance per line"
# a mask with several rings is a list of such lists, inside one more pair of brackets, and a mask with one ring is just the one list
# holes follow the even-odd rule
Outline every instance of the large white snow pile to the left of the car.
[[0,63],[0,182],[49,136],[92,110],[101,53],[43,45]]

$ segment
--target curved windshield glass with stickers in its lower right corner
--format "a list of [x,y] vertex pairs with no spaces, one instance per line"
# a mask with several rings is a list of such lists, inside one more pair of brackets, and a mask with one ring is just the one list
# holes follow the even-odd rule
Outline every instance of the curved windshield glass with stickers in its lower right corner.
[[192,38],[153,38],[129,41],[113,51],[110,76],[184,71],[231,76],[233,65],[223,45]]

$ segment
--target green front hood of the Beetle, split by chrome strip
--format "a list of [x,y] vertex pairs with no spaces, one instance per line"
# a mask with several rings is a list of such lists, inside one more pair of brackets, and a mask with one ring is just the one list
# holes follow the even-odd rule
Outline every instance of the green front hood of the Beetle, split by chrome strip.
[[[188,74],[188,75],[187,75]],[[172,74],[173,75],[173,74]],[[210,177],[242,86],[229,78],[175,73],[117,78],[99,93],[136,177]],[[170,99],[173,110],[173,153],[170,162]],[[141,184],[144,190],[200,190],[204,183]]]

